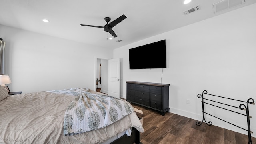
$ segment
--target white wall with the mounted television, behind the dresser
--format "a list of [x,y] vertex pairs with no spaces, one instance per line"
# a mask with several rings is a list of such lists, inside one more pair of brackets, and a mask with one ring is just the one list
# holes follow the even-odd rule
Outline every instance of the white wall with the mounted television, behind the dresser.
[[[202,104],[197,94],[208,90],[229,98],[256,100],[256,4],[153,36],[114,50],[121,60],[121,97],[126,98],[126,81],[170,84],[170,112],[202,121]],[[129,69],[129,49],[166,39],[167,68]],[[163,70],[163,77],[161,74]],[[208,96],[209,97],[209,96]],[[186,100],[190,104],[186,104]],[[221,100],[228,102],[227,100]],[[239,103],[231,102],[235,106]],[[245,116],[205,106],[207,112],[247,129]],[[252,136],[256,136],[256,106],[250,105]],[[242,110],[235,109],[243,113]],[[213,125],[248,134],[211,116]]]

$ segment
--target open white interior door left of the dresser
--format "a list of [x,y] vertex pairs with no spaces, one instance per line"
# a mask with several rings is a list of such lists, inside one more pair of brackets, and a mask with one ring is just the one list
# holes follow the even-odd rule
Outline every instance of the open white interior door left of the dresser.
[[108,95],[120,98],[120,60],[108,60]]

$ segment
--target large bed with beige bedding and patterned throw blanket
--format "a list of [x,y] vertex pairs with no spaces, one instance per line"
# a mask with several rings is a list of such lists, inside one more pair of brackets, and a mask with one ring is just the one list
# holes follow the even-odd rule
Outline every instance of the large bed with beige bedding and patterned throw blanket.
[[[85,100],[85,98],[90,99]],[[109,102],[105,101],[108,99],[110,99]],[[98,115],[94,112],[96,110],[89,110],[94,101],[97,102],[100,110]],[[102,110],[101,107],[99,108],[102,104],[98,101],[114,105]],[[120,105],[121,101],[124,103],[123,106]],[[79,102],[79,104],[84,102],[82,105],[89,107],[79,109],[79,106],[77,108],[74,106],[74,102]],[[127,115],[119,114],[119,117],[115,115],[113,111],[118,110],[116,107],[122,109],[119,111],[128,111]],[[140,132],[144,132],[142,120],[139,120],[134,109],[128,109],[128,107],[130,108],[131,105],[125,100],[106,96],[88,88],[8,96],[6,89],[0,86],[0,143],[139,144]],[[75,112],[73,116],[70,113],[72,109]],[[82,112],[86,115],[81,115]],[[70,119],[67,119],[67,115],[73,118],[72,128],[70,128]],[[109,119],[113,122],[106,119],[99,120],[97,116],[110,117]],[[96,120],[92,117],[96,117]],[[90,119],[90,122],[84,119]],[[74,123],[75,121],[78,122]],[[87,127],[89,131],[86,130]]]

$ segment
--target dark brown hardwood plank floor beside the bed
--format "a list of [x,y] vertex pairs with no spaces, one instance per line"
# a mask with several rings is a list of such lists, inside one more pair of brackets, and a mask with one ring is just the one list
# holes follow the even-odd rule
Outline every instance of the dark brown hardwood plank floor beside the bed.
[[[144,133],[140,134],[143,144],[248,144],[248,136],[203,123],[172,113],[162,116],[144,106],[132,104],[143,111]],[[252,137],[253,144],[256,138]]]

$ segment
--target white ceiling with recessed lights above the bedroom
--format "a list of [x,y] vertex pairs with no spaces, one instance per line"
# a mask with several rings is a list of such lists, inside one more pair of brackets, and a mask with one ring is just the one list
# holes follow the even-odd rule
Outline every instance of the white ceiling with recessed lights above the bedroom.
[[[213,4],[220,1],[192,0],[183,4],[183,0],[0,0],[0,24],[114,49],[256,3],[246,0],[245,4],[214,14]],[[183,14],[198,5],[200,10]],[[122,14],[127,18],[112,28],[117,35],[113,40],[106,40],[111,35],[103,28],[80,26],[104,26],[104,17],[110,17],[112,22]],[[50,23],[42,22],[43,18]]]

